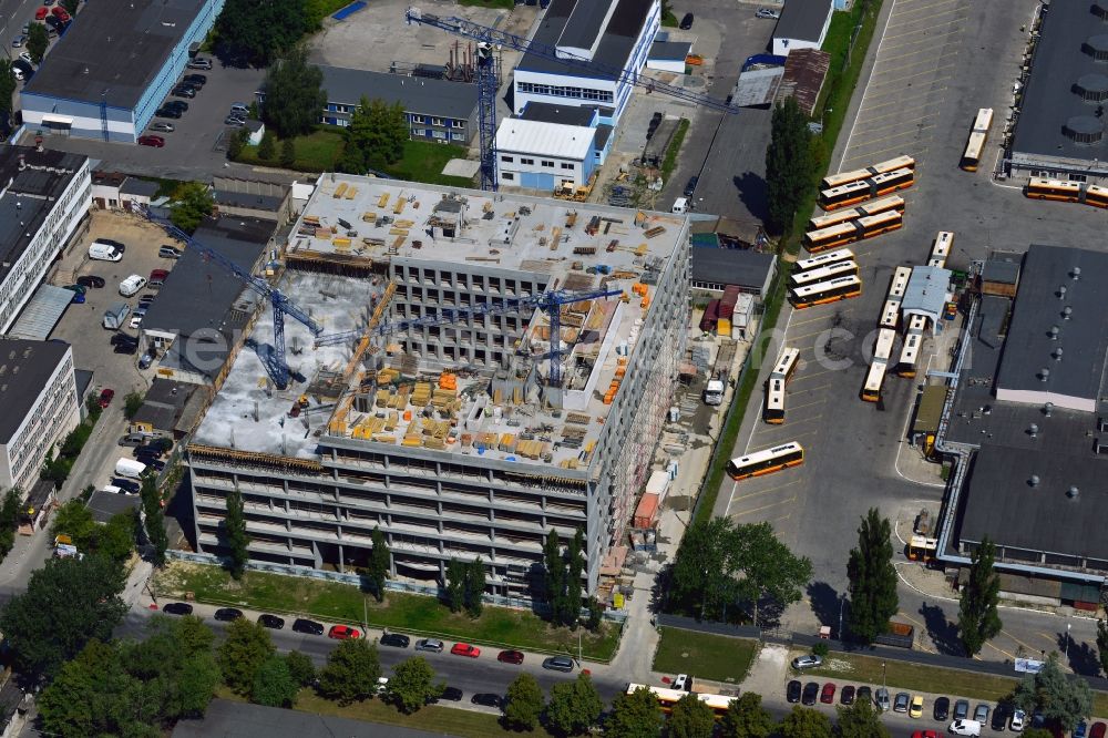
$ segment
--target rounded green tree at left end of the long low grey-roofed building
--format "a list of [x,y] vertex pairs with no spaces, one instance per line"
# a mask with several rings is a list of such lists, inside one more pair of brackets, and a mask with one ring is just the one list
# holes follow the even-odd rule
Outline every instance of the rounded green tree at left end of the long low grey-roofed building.
[[308,63],[307,48],[289,50],[266,73],[266,130],[286,140],[311,133],[327,105],[322,84],[324,73]]

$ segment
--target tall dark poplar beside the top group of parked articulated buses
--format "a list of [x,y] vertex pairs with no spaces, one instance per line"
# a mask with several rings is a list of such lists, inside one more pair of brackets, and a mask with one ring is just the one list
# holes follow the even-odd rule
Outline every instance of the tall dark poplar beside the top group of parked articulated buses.
[[767,225],[787,234],[804,193],[812,186],[812,158],[808,121],[791,95],[773,107],[769,147],[766,150]]

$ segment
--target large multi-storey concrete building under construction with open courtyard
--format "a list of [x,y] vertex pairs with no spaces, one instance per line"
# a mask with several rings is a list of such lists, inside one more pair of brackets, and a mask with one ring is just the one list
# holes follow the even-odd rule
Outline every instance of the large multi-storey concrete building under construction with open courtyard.
[[527,596],[579,529],[595,592],[685,353],[686,218],[325,175],[283,260],[324,332],[286,321],[287,390],[237,353],[188,450],[199,550],[237,488],[255,562],[351,571],[379,526],[394,577],[480,556]]

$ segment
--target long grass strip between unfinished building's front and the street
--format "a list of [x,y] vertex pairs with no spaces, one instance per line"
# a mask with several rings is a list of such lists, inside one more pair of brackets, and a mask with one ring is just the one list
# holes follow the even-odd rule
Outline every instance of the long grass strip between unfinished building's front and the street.
[[346,623],[361,623],[363,603],[368,601],[371,627],[524,650],[576,654],[579,633],[584,657],[599,662],[611,660],[619,645],[619,628],[611,623],[605,623],[598,634],[584,629],[571,633],[566,628],[552,628],[526,611],[490,606],[474,621],[468,615],[451,613],[427,596],[390,592],[384,602],[378,604],[349,584],[267,572],[247,572],[243,581],[236,583],[217,566],[173,562],[158,572],[155,586],[163,597],[182,598],[191,592],[196,601],[213,605],[304,614]]

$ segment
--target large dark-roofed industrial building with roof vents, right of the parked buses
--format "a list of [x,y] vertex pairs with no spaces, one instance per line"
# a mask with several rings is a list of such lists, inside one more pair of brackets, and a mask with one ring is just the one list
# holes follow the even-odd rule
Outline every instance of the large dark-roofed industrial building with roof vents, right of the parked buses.
[[[1016,274],[1003,262],[988,271]],[[1018,275],[1014,300],[978,298],[963,337],[936,444],[955,459],[940,552],[966,563],[988,537],[1002,571],[1088,602],[1081,587],[1108,575],[1108,316],[1097,300],[1108,254],[1033,245]]]

